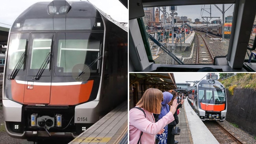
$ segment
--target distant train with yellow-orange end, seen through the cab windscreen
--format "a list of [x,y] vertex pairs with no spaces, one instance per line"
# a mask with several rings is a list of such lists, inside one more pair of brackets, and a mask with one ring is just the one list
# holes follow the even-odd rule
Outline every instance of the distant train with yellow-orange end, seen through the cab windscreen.
[[[196,30],[213,33],[222,36],[223,24],[210,24],[208,26],[197,27]],[[232,23],[224,23],[224,37],[230,39]]]

